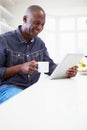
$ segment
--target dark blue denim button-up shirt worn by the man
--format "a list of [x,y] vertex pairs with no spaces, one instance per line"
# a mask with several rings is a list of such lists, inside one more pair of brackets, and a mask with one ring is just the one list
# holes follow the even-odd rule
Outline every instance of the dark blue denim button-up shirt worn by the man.
[[39,37],[34,37],[29,43],[27,43],[20,32],[20,26],[16,30],[1,34],[0,86],[3,84],[12,84],[25,89],[37,82],[40,76],[39,72],[34,72],[30,75],[18,73],[4,79],[4,74],[8,67],[23,64],[32,60],[48,61],[48,75],[50,75],[56,67],[56,64],[48,55],[44,42]]

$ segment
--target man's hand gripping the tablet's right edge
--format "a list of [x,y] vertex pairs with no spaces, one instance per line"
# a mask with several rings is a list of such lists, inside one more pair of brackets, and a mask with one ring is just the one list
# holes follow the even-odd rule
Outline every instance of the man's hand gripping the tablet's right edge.
[[69,68],[67,71],[66,71],[66,74],[69,78],[71,77],[75,77],[76,74],[77,74],[77,71],[78,71],[78,66],[73,66],[72,68]]

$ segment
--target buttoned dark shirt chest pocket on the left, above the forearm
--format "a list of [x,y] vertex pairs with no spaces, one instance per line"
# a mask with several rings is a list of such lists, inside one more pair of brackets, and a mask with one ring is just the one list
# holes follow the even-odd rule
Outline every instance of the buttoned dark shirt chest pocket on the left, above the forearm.
[[7,66],[22,64],[25,62],[25,55],[21,52],[6,50]]

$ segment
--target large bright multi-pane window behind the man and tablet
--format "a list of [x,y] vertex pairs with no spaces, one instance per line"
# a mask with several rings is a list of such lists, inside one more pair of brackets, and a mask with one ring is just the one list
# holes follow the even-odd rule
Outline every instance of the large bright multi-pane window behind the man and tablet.
[[55,62],[70,52],[87,55],[87,16],[47,16],[40,36]]

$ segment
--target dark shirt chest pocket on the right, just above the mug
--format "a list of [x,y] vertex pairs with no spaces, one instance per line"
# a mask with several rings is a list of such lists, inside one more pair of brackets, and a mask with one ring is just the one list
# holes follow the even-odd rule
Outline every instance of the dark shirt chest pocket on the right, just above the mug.
[[[43,61],[44,49],[29,54],[29,60]],[[28,60],[28,61],[29,61]]]

